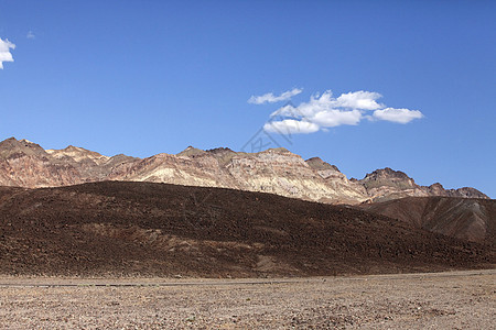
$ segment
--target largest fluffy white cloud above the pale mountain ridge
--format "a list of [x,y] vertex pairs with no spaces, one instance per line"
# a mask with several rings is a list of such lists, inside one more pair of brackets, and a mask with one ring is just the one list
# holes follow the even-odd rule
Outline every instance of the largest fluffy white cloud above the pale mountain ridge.
[[327,90],[298,107],[287,105],[272,112],[265,130],[308,134],[339,125],[357,125],[364,118],[405,124],[423,117],[419,110],[388,108],[377,102],[381,97],[378,92],[359,90],[334,98]]

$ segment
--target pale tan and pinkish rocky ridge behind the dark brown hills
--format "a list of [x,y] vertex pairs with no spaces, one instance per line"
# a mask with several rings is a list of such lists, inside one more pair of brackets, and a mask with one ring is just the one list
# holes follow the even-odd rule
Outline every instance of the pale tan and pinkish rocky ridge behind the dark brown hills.
[[103,180],[168,183],[271,193],[327,204],[356,205],[407,196],[488,198],[474,188],[419,186],[402,172],[377,169],[347,179],[319,157],[304,161],[285,148],[259,153],[187,147],[177,155],[112,157],[82,147],[44,150],[14,138],[0,142],[0,186],[58,187]]

